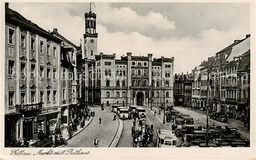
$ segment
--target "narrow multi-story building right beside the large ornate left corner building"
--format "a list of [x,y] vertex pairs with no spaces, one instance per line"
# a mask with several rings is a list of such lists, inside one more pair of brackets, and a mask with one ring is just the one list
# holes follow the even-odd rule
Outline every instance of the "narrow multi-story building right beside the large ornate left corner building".
[[60,47],[60,107],[63,125],[68,125],[72,118],[76,118],[81,111],[81,103],[78,103],[78,88],[76,57],[81,55],[77,51],[78,46],[53,29],[52,35],[62,40]]

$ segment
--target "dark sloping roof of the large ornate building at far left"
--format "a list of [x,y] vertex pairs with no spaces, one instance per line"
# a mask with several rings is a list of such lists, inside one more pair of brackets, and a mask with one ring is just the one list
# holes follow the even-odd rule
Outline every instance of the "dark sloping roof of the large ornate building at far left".
[[25,17],[20,15],[18,12],[14,11],[10,8],[6,8],[6,10],[5,10],[5,19],[6,19],[6,22],[19,25],[21,28],[24,28],[30,32],[36,32],[38,35],[40,35],[42,37],[49,38],[58,43],[61,42],[60,39],[54,37],[49,32],[40,28],[37,24],[31,22],[30,20],[26,19]]

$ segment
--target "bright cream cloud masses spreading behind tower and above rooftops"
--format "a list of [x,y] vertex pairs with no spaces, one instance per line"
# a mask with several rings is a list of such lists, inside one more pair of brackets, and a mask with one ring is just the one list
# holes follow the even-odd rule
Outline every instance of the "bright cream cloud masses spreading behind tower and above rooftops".
[[[62,36],[65,36],[77,45],[80,44],[80,38],[83,37],[84,33],[84,18],[77,15],[71,15],[67,11],[71,8],[71,5],[10,3],[10,8],[19,12],[24,17],[47,31],[52,31],[53,28],[57,28]],[[106,11],[110,11],[108,6],[106,6],[105,9]],[[105,13],[106,11],[102,11],[102,13]],[[136,13],[129,8],[122,8],[116,11],[115,9],[112,9],[110,12],[112,12],[109,14],[112,14],[112,18],[118,17],[117,15],[119,14],[131,14],[130,20],[115,20],[116,23],[120,25],[122,25],[122,22],[124,24],[128,22],[136,22],[134,19],[137,18],[137,24],[131,24],[129,27],[133,26],[134,28],[139,28],[139,25],[141,25],[141,30],[143,28],[148,29],[149,27],[145,20],[140,21],[140,16],[136,15]],[[117,15],[114,15],[114,13]],[[147,16],[156,17],[155,19],[161,17],[161,15],[150,12],[144,16],[144,18]],[[208,57],[215,56],[216,52],[231,44],[233,40],[243,39],[246,34],[250,33],[249,24],[237,23],[227,31],[219,31],[214,28],[203,29],[199,32],[196,38],[186,35],[183,37],[154,39],[143,35],[140,30],[131,33],[110,33],[108,32],[108,28],[101,23],[102,19],[108,18],[111,17],[107,16],[102,18],[101,14],[97,14],[98,53],[115,53],[118,59],[120,56],[126,55],[126,52],[133,52],[134,56],[139,56],[140,54],[141,56],[147,56],[147,54],[152,53],[154,58],[160,58],[161,56],[167,58],[175,57],[175,72],[186,72],[194,69],[195,66],[200,65],[201,62],[207,60]],[[168,22],[166,21],[166,23]],[[157,24],[157,22],[155,21],[154,24]],[[113,23],[113,25],[116,24]],[[151,27],[153,27],[153,24]],[[155,30],[152,31],[156,34],[158,33]]]

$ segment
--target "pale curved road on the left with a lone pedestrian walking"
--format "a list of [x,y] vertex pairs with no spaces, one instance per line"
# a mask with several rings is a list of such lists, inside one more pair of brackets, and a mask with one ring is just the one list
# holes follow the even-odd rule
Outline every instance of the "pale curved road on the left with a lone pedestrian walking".
[[[84,128],[79,134],[68,140],[68,145],[64,147],[94,147],[94,139],[98,137],[98,147],[109,147],[116,131],[118,129],[118,121],[113,121],[113,114],[99,107],[91,107],[95,111],[91,123]],[[101,124],[99,124],[101,117]]]

